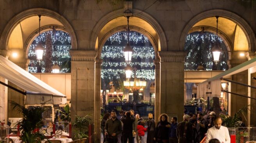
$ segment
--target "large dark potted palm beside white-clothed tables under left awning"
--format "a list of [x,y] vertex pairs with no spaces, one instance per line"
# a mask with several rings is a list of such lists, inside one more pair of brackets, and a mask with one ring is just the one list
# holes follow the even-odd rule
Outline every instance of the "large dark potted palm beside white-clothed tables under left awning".
[[42,140],[46,139],[44,134],[40,134],[39,132],[33,133],[33,131],[43,127],[42,114],[49,107],[42,105],[25,108],[25,106],[21,106],[14,101],[11,101],[11,105],[13,109],[23,115],[23,119],[17,123],[17,125],[20,124],[21,140],[23,143],[41,143]]

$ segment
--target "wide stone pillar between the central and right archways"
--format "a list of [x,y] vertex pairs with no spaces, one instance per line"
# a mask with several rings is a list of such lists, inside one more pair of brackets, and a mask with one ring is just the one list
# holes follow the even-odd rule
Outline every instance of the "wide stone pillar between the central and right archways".
[[184,113],[184,51],[159,51],[160,113],[183,120]]

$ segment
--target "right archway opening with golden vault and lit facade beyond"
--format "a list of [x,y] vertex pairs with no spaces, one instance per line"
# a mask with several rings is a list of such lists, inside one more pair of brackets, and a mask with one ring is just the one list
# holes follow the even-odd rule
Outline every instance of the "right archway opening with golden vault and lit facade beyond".
[[[222,52],[218,64],[213,63],[211,51],[212,46],[216,42],[215,16],[220,16],[218,37]],[[254,39],[251,37],[251,29],[248,27],[248,24],[244,20],[238,21],[238,17],[235,14],[231,15],[230,12],[225,10],[224,12],[210,10],[195,16],[186,26],[187,36],[185,41],[183,41],[185,43],[185,51],[187,51],[185,70],[186,68],[187,70],[197,70],[185,71],[184,103],[185,108],[190,110],[188,112],[207,113],[213,110],[215,105],[219,106],[220,113],[223,114],[228,114],[231,110],[229,108],[230,96],[228,94],[221,93],[217,100],[209,98],[209,96],[199,99],[197,97],[197,84],[222,73],[223,70],[231,68],[230,60],[232,59],[247,60],[245,52],[251,51],[254,48]],[[204,51],[204,48],[208,50]],[[217,103],[217,101],[219,102]],[[192,106],[193,108],[190,108]]]

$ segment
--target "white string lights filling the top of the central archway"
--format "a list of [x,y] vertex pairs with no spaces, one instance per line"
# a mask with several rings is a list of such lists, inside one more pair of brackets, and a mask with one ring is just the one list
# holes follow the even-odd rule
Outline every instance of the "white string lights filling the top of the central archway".
[[[123,49],[127,43],[127,33],[118,32],[108,38],[101,52],[101,78],[108,80],[125,80]],[[136,71],[137,78],[147,80],[155,79],[155,51],[147,37],[137,32],[130,32],[130,45],[133,49],[132,55],[132,77]]]

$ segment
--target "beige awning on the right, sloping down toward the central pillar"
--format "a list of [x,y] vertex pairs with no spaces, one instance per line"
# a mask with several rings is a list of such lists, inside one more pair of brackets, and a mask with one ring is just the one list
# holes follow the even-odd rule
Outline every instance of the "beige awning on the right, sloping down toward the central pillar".
[[199,98],[201,97],[220,97],[221,92],[221,78],[226,78],[236,73],[243,72],[245,70],[249,70],[250,73],[256,72],[256,58],[253,58],[249,61],[246,61],[234,68],[231,68],[215,77],[209,78],[204,82],[201,82],[197,86],[197,95]]

